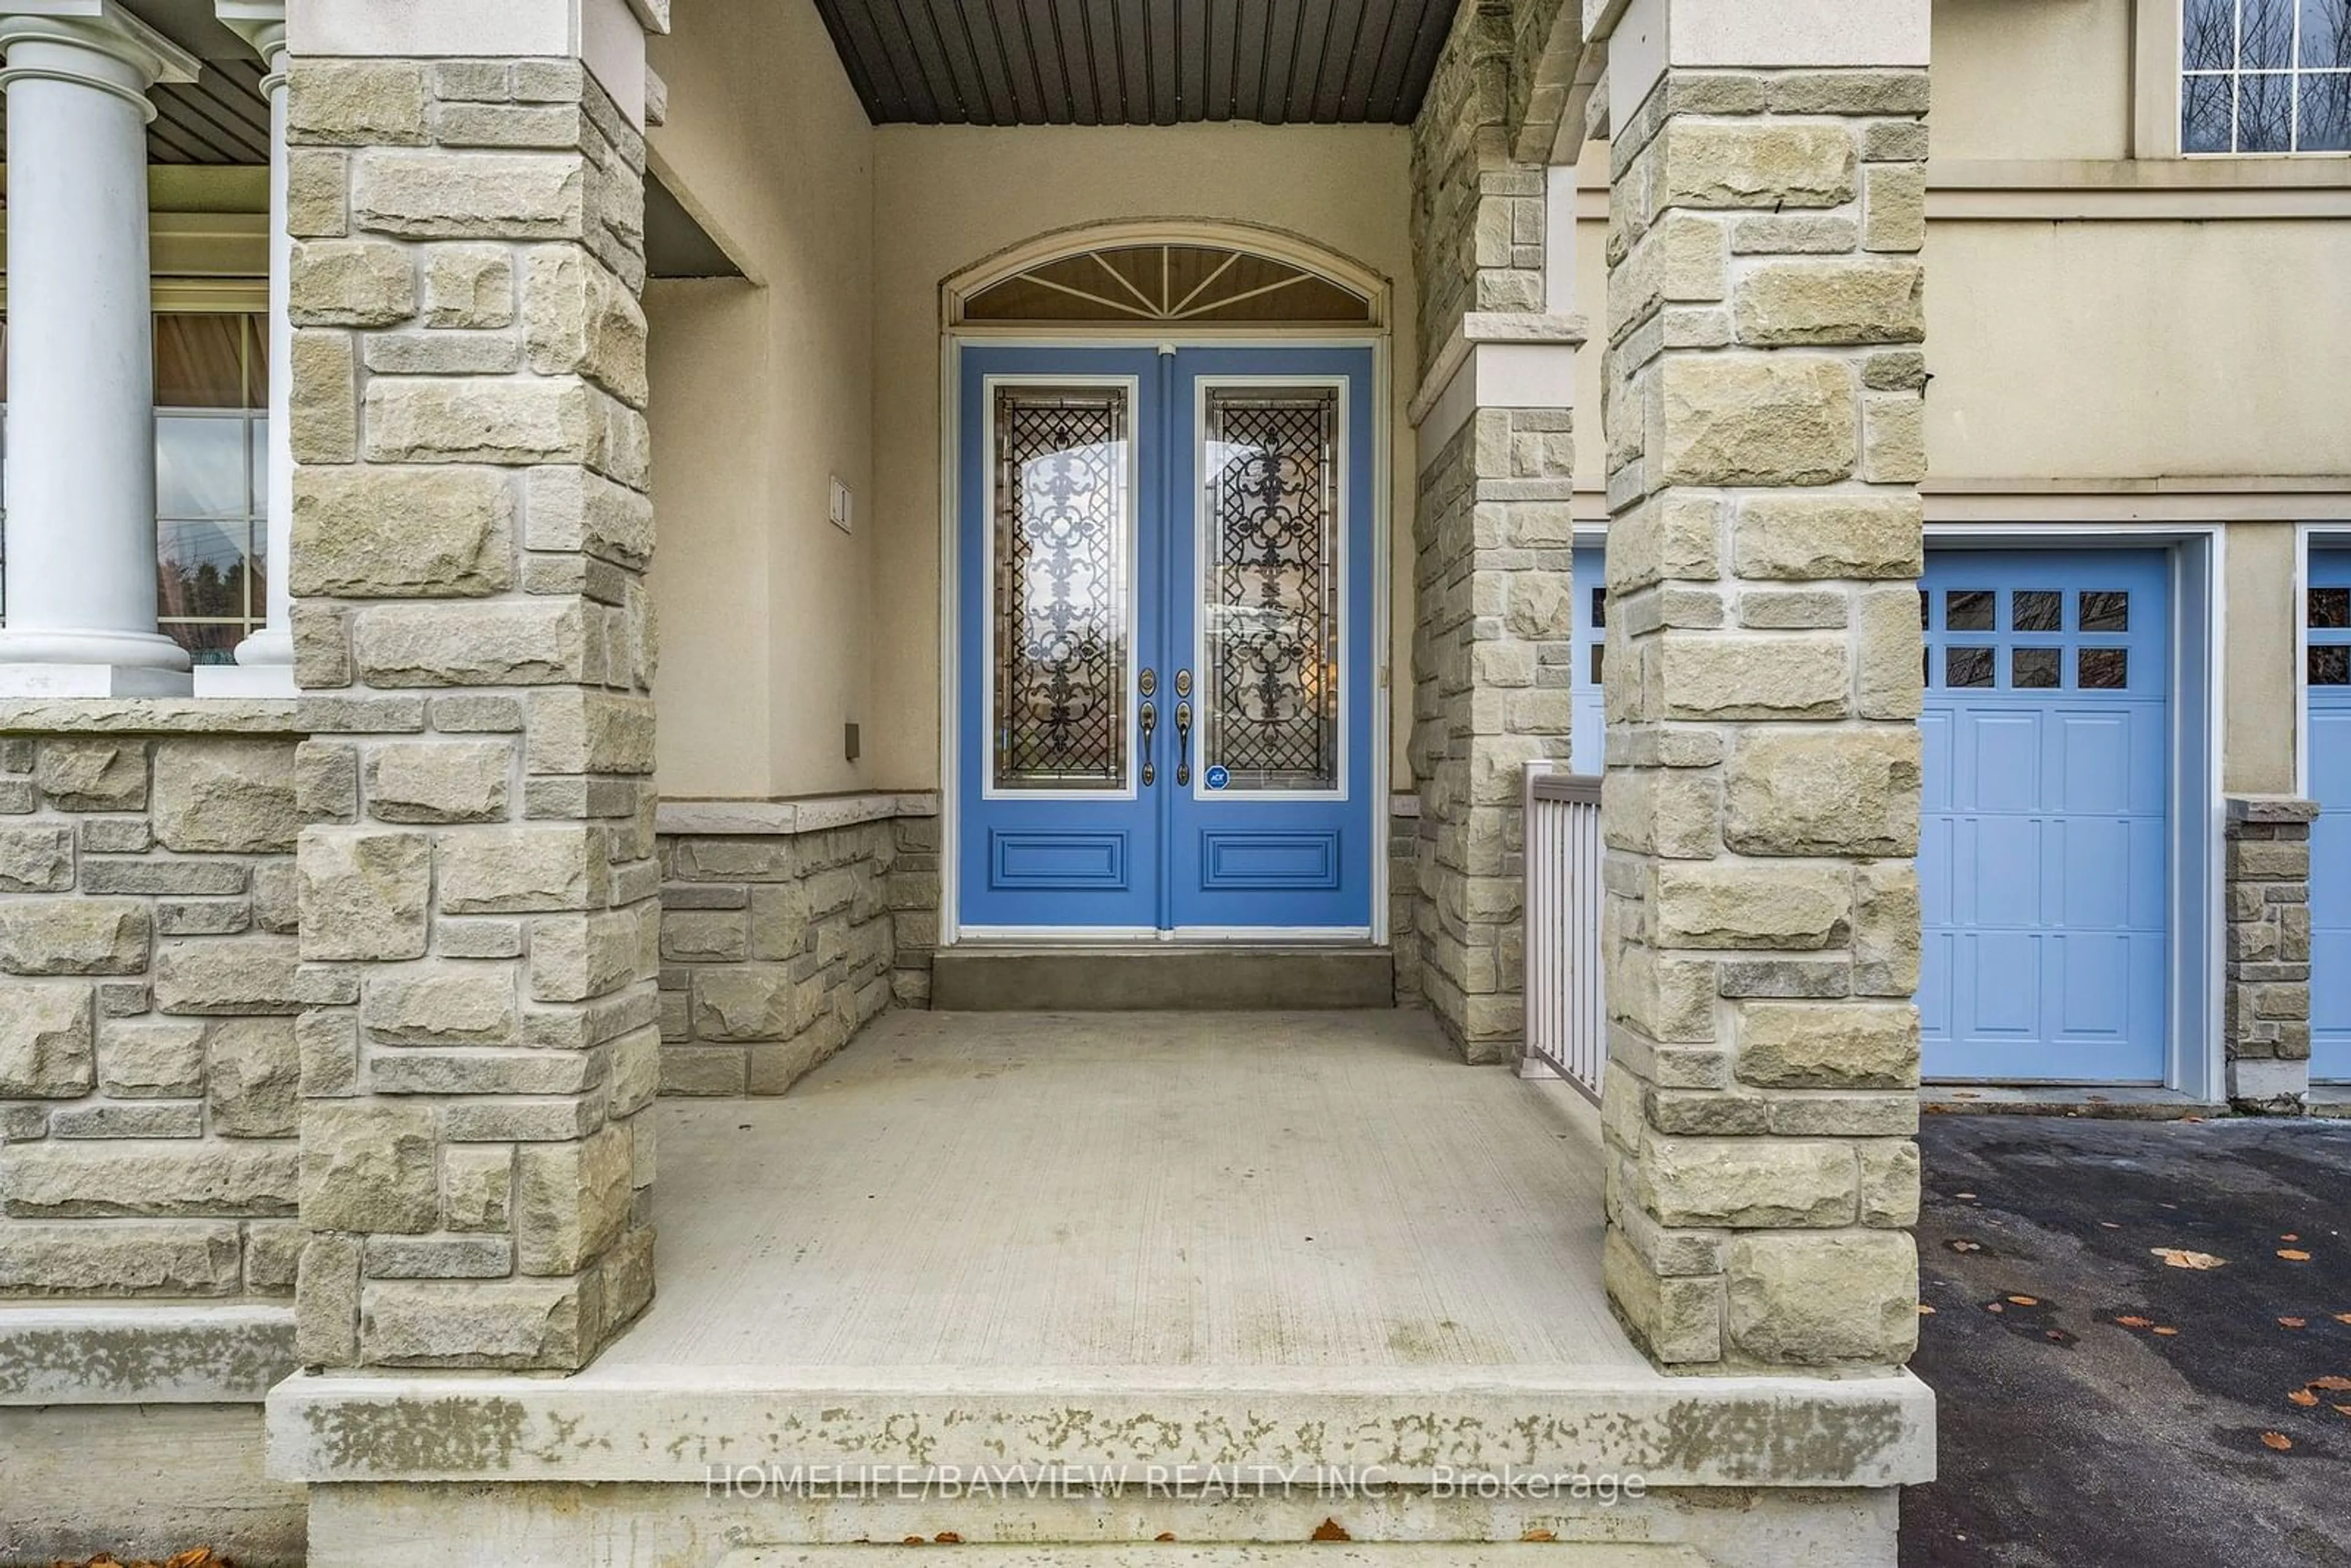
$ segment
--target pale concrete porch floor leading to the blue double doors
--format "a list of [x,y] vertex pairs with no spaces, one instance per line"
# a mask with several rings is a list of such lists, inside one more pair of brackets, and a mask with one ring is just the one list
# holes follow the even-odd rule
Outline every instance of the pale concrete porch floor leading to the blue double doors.
[[656,1112],[661,1291],[611,1371],[1646,1371],[1599,1114],[1427,1013],[903,1011],[790,1095]]

